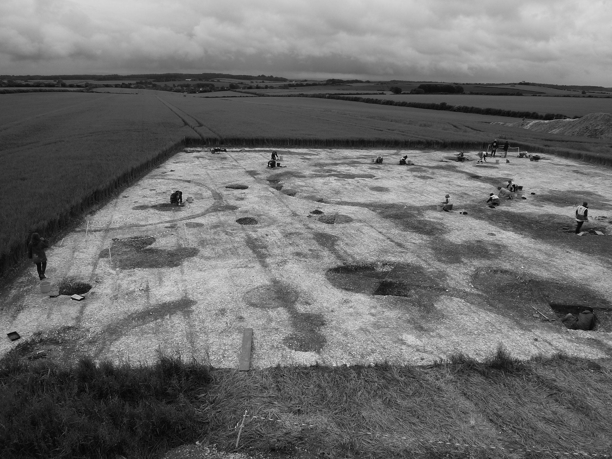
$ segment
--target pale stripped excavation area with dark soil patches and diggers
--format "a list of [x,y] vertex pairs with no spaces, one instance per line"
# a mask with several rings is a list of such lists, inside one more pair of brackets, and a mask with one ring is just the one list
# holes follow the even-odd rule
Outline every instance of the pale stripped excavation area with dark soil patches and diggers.
[[[522,359],[612,356],[609,169],[275,151],[285,167],[266,167],[272,149],[190,148],[86,215],[48,249],[50,291],[31,263],[2,288],[0,328],[21,339],[0,354],[35,338],[45,358],[152,361],[160,349],[237,368],[250,328],[250,368],[482,359],[500,343]],[[522,190],[490,207],[509,180]],[[584,311],[591,330],[562,322]]]

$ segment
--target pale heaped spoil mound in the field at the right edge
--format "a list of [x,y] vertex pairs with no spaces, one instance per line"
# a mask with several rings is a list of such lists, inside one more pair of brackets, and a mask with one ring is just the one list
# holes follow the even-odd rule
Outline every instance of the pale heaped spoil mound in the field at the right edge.
[[592,137],[612,140],[612,114],[589,113],[578,119],[553,119],[551,121],[519,121],[505,124],[550,134]]

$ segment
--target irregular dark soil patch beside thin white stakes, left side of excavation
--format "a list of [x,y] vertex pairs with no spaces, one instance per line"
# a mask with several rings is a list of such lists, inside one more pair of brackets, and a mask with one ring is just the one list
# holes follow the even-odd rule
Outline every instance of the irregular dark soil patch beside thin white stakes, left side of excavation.
[[[111,244],[113,267],[121,269],[164,268],[181,266],[184,259],[198,255],[194,247],[179,247],[173,250],[151,248],[155,237],[113,239]],[[108,258],[108,249],[100,251],[100,258]]]

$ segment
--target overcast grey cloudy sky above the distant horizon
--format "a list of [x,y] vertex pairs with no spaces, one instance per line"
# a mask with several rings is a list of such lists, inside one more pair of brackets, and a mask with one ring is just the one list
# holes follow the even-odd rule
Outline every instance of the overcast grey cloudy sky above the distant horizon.
[[0,74],[612,86],[612,0],[0,0]]

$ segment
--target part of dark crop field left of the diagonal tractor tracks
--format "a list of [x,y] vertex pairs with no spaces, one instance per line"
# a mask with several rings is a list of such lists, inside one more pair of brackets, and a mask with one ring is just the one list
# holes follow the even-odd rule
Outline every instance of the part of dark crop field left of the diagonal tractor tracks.
[[29,231],[44,229],[95,190],[193,135],[155,97],[0,97],[0,270]]

